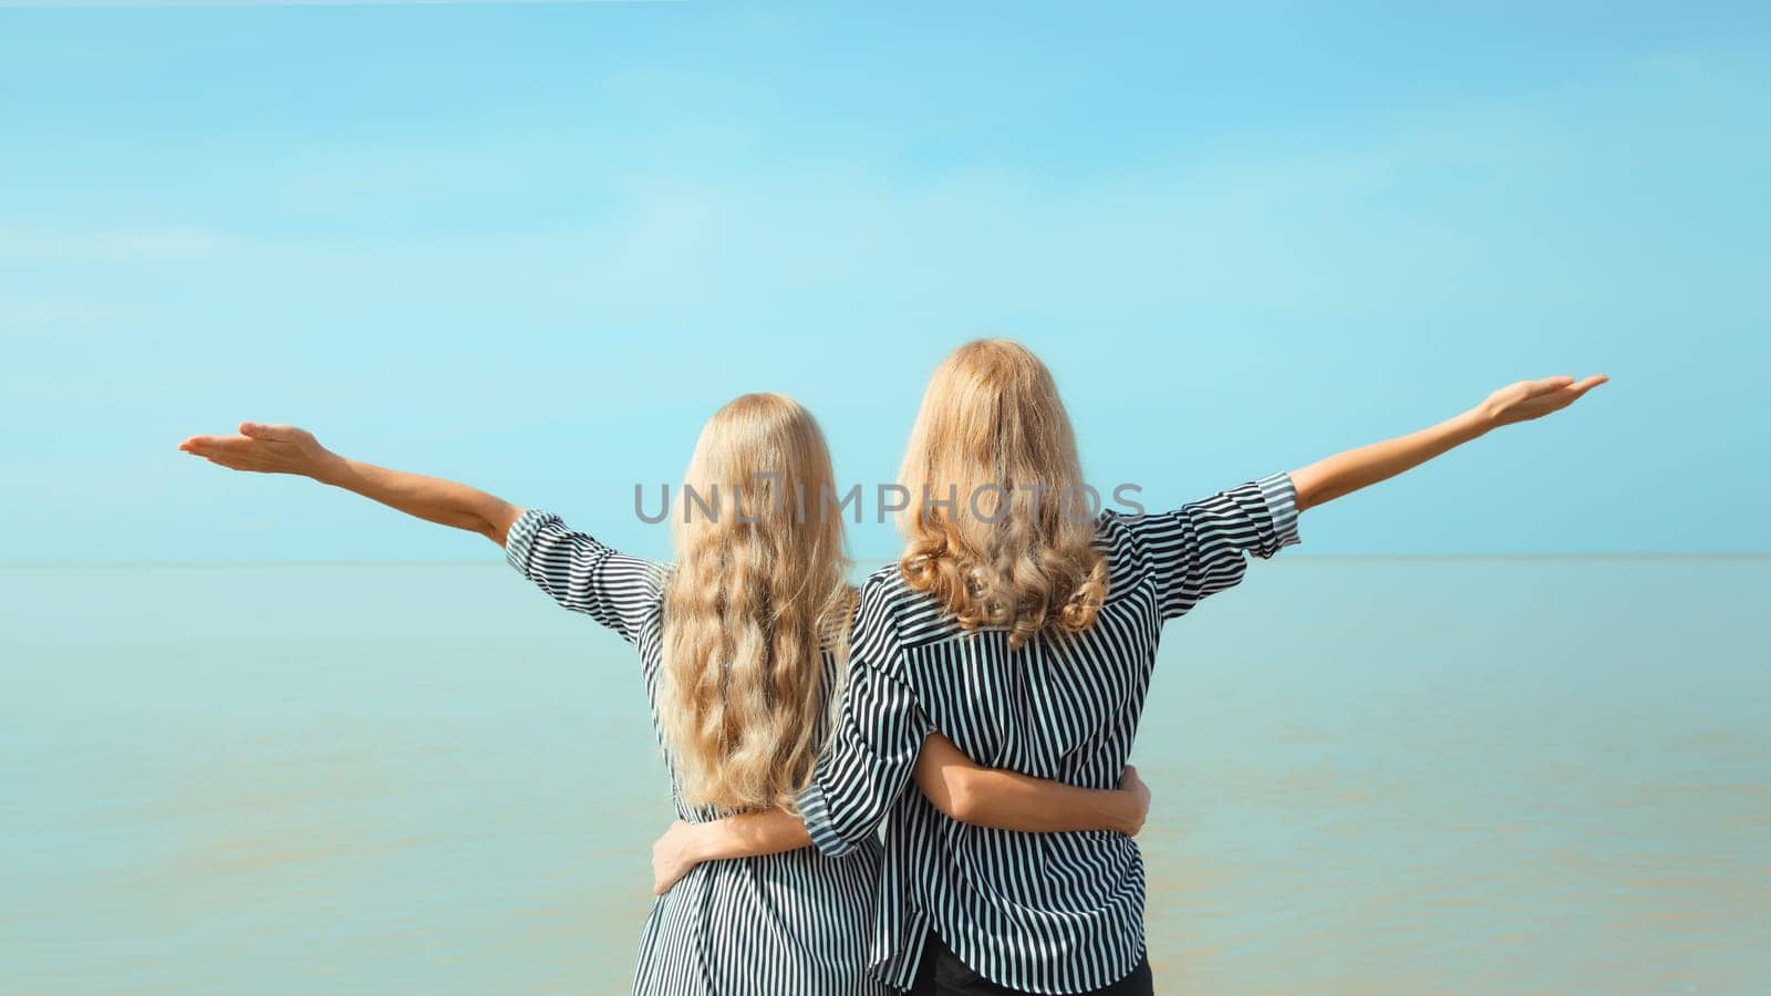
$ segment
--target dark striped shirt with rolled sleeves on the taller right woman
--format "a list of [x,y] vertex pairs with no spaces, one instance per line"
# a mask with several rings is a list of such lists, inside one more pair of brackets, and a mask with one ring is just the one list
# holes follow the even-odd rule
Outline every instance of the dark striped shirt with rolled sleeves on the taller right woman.
[[1087,992],[1144,955],[1144,863],[1109,833],[1011,833],[942,815],[905,785],[940,730],[986,767],[1091,789],[1119,783],[1162,624],[1236,585],[1249,553],[1298,541],[1296,493],[1279,473],[1172,512],[1100,516],[1109,594],[1084,633],[1018,650],[963,633],[896,565],[861,592],[841,718],[799,798],[825,854],[870,842],[886,863],[871,969],[909,989],[932,929],[974,971],[1025,992]]

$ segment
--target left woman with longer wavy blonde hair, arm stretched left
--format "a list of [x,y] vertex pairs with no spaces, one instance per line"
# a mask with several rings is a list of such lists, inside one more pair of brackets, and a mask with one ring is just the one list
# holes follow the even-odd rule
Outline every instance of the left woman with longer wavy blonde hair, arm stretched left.
[[[560,516],[473,487],[344,459],[292,425],[241,424],[182,450],[234,470],[299,473],[471,532],[561,606],[639,654],[680,826],[792,805],[811,782],[843,682],[848,585],[831,454],[785,395],[751,393],[701,431],[677,505],[677,565],[611,549]],[[1139,787],[1094,792],[981,769],[939,735],[917,744],[919,783],[955,819],[1008,829],[1135,831]],[[700,863],[655,883],[634,991],[884,996],[864,971],[878,840],[831,860],[808,847]],[[669,849],[655,851],[655,858]],[[607,985],[595,985],[606,991]]]

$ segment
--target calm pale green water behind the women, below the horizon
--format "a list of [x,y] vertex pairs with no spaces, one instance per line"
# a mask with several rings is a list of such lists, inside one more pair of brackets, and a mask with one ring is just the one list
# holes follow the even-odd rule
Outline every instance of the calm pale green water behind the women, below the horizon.
[[[1162,992],[1771,991],[1771,560],[1307,560],[1172,624]],[[620,992],[634,658],[498,564],[0,569],[0,991]]]

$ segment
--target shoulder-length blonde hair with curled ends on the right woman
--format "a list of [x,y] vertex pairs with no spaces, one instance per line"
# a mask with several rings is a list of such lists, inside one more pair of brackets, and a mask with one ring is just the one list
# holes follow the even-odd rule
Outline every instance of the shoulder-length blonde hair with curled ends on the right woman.
[[976,340],[947,356],[898,482],[910,493],[898,569],[962,627],[1004,627],[1020,647],[1094,624],[1107,560],[1077,438],[1052,372],[1025,346]]

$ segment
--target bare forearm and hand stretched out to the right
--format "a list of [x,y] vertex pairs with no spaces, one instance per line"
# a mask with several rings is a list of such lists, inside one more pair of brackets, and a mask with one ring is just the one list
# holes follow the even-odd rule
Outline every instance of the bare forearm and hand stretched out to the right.
[[1346,450],[1303,470],[1295,470],[1291,484],[1298,491],[1298,510],[1388,480],[1502,425],[1560,411],[1605,381],[1603,374],[1578,383],[1574,377],[1520,381],[1496,390],[1482,404],[1431,429]]

